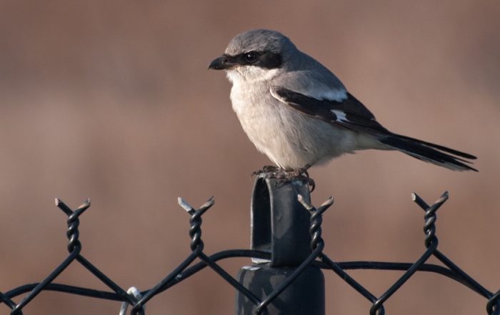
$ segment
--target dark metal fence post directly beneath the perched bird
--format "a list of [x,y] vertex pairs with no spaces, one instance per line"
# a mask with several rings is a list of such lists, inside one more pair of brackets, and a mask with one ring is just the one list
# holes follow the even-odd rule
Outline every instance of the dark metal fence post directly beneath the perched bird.
[[[251,199],[251,249],[270,252],[271,260],[252,259],[251,266],[239,271],[239,282],[262,302],[255,305],[238,292],[237,315],[325,314],[321,269],[308,264],[286,284],[286,279],[311,255],[311,214],[298,201],[299,194],[310,200],[306,181],[257,176]],[[278,291],[281,293],[276,294]]]

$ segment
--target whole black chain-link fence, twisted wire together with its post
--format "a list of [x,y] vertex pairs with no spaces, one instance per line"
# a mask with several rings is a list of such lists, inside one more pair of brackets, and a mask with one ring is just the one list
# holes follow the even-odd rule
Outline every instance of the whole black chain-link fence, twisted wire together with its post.
[[[333,271],[348,286],[369,300],[372,304],[369,309],[370,315],[382,315],[385,314],[384,303],[416,271],[428,271],[454,279],[484,296],[487,299],[486,314],[500,315],[500,291],[492,293],[485,289],[438,249],[436,211],[447,199],[448,193],[445,192],[429,206],[418,195],[413,194],[413,201],[424,210],[425,250],[414,263],[397,263],[339,262],[329,258],[324,252],[325,242],[321,238],[321,218],[324,211],[334,203],[334,199],[329,198],[318,207],[311,205],[306,181],[284,182],[271,179],[266,174],[257,176],[251,201],[251,249],[232,249],[211,255],[204,252],[201,224],[202,216],[214,205],[214,198],[206,201],[198,209],[194,209],[179,198],[179,205],[190,216],[191,254],[156,286],[146,291],[121,288],[110,276],[101,272],[81,254],[79,219],[89,209],[90,201],[87,200],[72,210],[64,202],[56,199],[56,206],[67,216],[66,236],[69,240],[69,256],[41,282],[25,284],[5,292],[0,291],[0,303],[9,307],[11,315],[21,315],[23,308],[41,291],[59,291],[96,299],[121,301],[119,314],[126,314],[128,306],[131,307],[129,314],[146,314],[145,306],[149,300],[209,267],[236,289],[235,314],[238,315],[324,315],[326,312],[323,271]],[[443,266],[426,264],[431,256],[439,259]],[[241,268],[236,278],[218,264],[222,259],[234,257],[249,257],[252,260],[251,266]],[[62,271],[75,263],[84,266],[110,290],[100,291],[54,283]],[[384,294],[376,296],[346,272],[350,269],[399,270],[404,271],[404,274]],[[21,301],[14,301],[14,298],[22,294],[26,295]]]

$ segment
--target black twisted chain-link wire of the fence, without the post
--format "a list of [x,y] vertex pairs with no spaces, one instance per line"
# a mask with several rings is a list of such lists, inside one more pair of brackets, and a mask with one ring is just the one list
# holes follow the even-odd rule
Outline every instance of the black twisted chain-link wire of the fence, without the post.
[[[392,263],[392,262],[378,262],[378,261],[351,261],[339,262],[331,259],[324,251],[325,241],[321,237],[321,224],[322,215],[334,203],[333,198],[327,199],[324,204],[319,207],[314,207],[302,196],[297,196],[299,202],[304,206],[304,211],[309,211],[311,214],[309,234],[311,236],[311,254],[288,276],[274,291],[268,294],[264,299],[259,299],[254,293],[249,291],[245,286],[239,283],[233,276],[231,276],[220,265],[219,261],[222,259],[229,259],[234,257],[251,257],[258,259],[270,259],[269,252],[255,251],[248,249],[234,249],[227,251],[219,251],[215,254],[206,254],[204,252],[204,241],[201,236],[202,216],[206,211],[211,209],[214,205],[214,198],[210,198],[206,203],[201,205],[198,209],[190,206],[184,199],[179,198],[179,205],[186,210],[189,214],[189,236],[191,237],[191,253],[181,261],[171,271],[165,271],[163,279],[158,281],[157,284],[145,291],[139,291],[135,288],[124,289],[117,285],[111,276],[104,274],[94,264],[87,260],[82,251],[81,241],[79,240],[79,220],[82,214],[89,209],[90,201],[87,200],[78,208],[72,210],[66,206],[64,202],[56,199],[56,206],[61,209],[67,216],[67,231],[68,238],[67,249],[69,255],[64,261],[59,264],[53,271],[49,272],[46,278],[42,279],[36,284],[26,284],[23,286],[10,289],[8,291],[0,291],[0,302],[10,309],[10,314],[19,315],[23,314],[24,307],[29,304],[33,299],[38,296],[41,291],[60,291],[67,294],[76,294],[81,296],[89,296],[96,299],[106,299],[111,301],[123,302],[119,314],[126,314],[127,306],[131,306],[130,314],[146,314],[145,306],[155,296],[167,291],[172,286],[179,284],[181,281],[188,279],[198,271],[209,267],[216,274],[221,276],[224,281],[234,289],[243,294],[246,299],[249,299],[254,304],[254,314],[264,314],[266,307],[271,304],[276,297],[278,297],[289,286],[307,266],[317,266],[324,270],[334,271],[339,275],[346,284],[351,286],[352,289],[359,292],[366,300],[371,303],[369,314],[382,315],[386,314],[384,303],[391,298],[391,296],[403,286],[416,271],[429,271],[436,274],[447,276],[455,281],[469,287],[477,294],[487,299],[485,313],[489,315],[500,314],[500,291],[496,293],[491,292],[481,286],[479,282],[472,279],[471,276],[466,274],[463,270],[456,266],[453,261],[446,257],[438,249],[439,239],[436,236],[436,211],[446,202],[449,198],[445,192],[434,204],[426,204],[418,195],[413,194],[412,198],[416,204],[424,210],[424,252],[419,259],[414,263]],[[434,256],[441,261],[443,266],[435,264],[426,264],[426,261]],[[105,284],[109,291],[101,291],[96,289],[89,289],[79,286],[69,286],[66,284],[57,284],[54,282],[57,276],[61,274],[69,265],[76,264],[76,262],[84,266],[89,271],[89,275],[95,276],[99,281]],[[346,270],[349,269],[381,269],[381,270],[401,270],[404,274],[397,279],[383,294],[376,296],[371,291],[366,289],[359,281],[356,281]],[[26,294],[20,301],[19,296]],[[479,314],[479,311],[478,311]]]

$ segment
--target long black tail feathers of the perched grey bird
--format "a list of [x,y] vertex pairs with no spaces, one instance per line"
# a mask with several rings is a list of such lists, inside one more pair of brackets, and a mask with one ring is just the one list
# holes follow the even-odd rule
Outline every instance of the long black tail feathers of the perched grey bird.
[[399,134],[391,134],[379,141],[392,149],[399,150],[422,161],[444,166],[446,169],[451,169],[453,171],[478,171],[474,169],[474,167],[467,165],[471,164],[471,161],[466,160],[477,159],[476,156],[449,149],[446,148],[446,146],[431,144],[430,142],[410,138],[409,136],[401,136]]

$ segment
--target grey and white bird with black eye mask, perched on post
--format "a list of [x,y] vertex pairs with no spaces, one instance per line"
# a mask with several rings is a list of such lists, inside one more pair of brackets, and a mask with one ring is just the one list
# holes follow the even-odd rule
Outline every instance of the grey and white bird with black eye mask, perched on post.
[[209,69],[226,70],[231,102],[256,148],[284,171],[306,171],[357,150],[397,150],[454,171],[476,156],[394,134],[325,66],[277,31],[231,39]]

